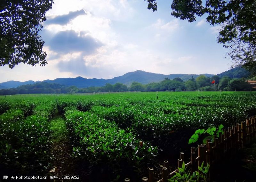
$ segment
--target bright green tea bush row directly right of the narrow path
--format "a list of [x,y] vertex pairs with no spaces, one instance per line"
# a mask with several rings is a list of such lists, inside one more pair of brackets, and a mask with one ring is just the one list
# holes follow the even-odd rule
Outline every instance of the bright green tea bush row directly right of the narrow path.
[[68,128],[76,136],[74,156],[91,163],[108,163],[109,166],[125,164],[140,166],[149,162],[157,154],[157,148],[136,138],[131,130],[120,129],[90,112],[68,110],[65,113]]

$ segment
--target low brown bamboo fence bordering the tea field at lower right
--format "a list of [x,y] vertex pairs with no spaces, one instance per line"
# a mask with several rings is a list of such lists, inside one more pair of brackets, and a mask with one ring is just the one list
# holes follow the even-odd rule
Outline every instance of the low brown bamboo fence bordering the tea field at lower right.
[[[213,143],[210,139],[207,139],[206,144],[198,145],[197,157],[195,147],[191,147],[190,161],[185,164],[185,166],[190,167],[191,173],[197,170],[197,166],[201,166],[202,162],[211,165],[225,157],[225,154],[235,155],[239,149],[250,145],[252,140],[256,139],[256,115],[242,121],[241,124],[236,123],[236,125],[228,127],[228,130],[224,130],[224,134],[220,133],[219,136],[220,138],[214,138]],[[184,153],[181,152],[180,159],[178,159],[178,168],[182,167],[183,161]],[[167,182],[176,174],[175,172],[179,172],[179,169],[176,169],[169,173],[168,161],[164,161],[162,170],[162,179],[157,180],[157,182]],[[126,178],[124,181],[130,181],[130,179]],[[156,181],[153,168],[149,168],[148,178],[144,177],[142,181]]]

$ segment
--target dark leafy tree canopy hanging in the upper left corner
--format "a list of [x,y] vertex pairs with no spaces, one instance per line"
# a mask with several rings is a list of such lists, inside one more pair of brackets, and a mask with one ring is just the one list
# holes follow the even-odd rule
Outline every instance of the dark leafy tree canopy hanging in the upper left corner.
[[46,64],[44,42],[38,32],[53,0],[5,0],[0,2],[0,66],[23,62]]

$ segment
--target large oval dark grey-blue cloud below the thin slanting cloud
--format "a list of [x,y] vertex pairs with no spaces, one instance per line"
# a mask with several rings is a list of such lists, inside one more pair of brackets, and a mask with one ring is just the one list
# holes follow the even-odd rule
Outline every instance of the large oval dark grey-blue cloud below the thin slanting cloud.
[[46,45],[58,53],[83,51],[83,54],[88,55],[94,53],[103,44],[92,36],[78,36],[74,30],[67,30],[58,32]]

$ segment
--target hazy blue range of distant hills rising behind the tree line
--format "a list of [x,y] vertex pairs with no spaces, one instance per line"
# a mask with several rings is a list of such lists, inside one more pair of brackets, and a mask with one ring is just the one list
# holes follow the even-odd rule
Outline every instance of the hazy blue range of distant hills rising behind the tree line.
[[[218,74],[218,76],[229,76],[231,78],[242,78],[242,77],[248,77],[250,73],[246,71],[244,68],[236,67],[233,69],[230,69],[226,72]],[[212,77],[212,74],[201,74],[205,75],[207,77]],[[142,84],[147,84],[151,82],[159,82],[164,80],[164,78],[173,79],[175,77],[179,77],[184,81],[187,81],[191,77],[198,77],[199,75],[196,74],[170,74],[170,75],[164,75],[164,74],[157,74],[157,73],[149,73],[146,71],[133,71],[126,73],[122,76],[117,76],[111,79],[97,79],[97,78],[83,78],[81,76],[78,76],[76,78],[57,78],[55,80],[44,80],[42,82],[45,83],[57,83],[61,85],[66,86],[76,86],[77,88],[87,88],[91,86],[100,87],[104,86],[106,83],[115,84],[115,83],[123,83],[126,85],[130,85],[132,82],[139,82]],[[20,85],[26,85],[26,84],[34,84],[39,83],[40,81],[34,82],[32,80],[26,81],[26,82],[19,82],[19,81],[8,81],[0,83],[0,89],[6,89],[6,88],[16,88]]]

